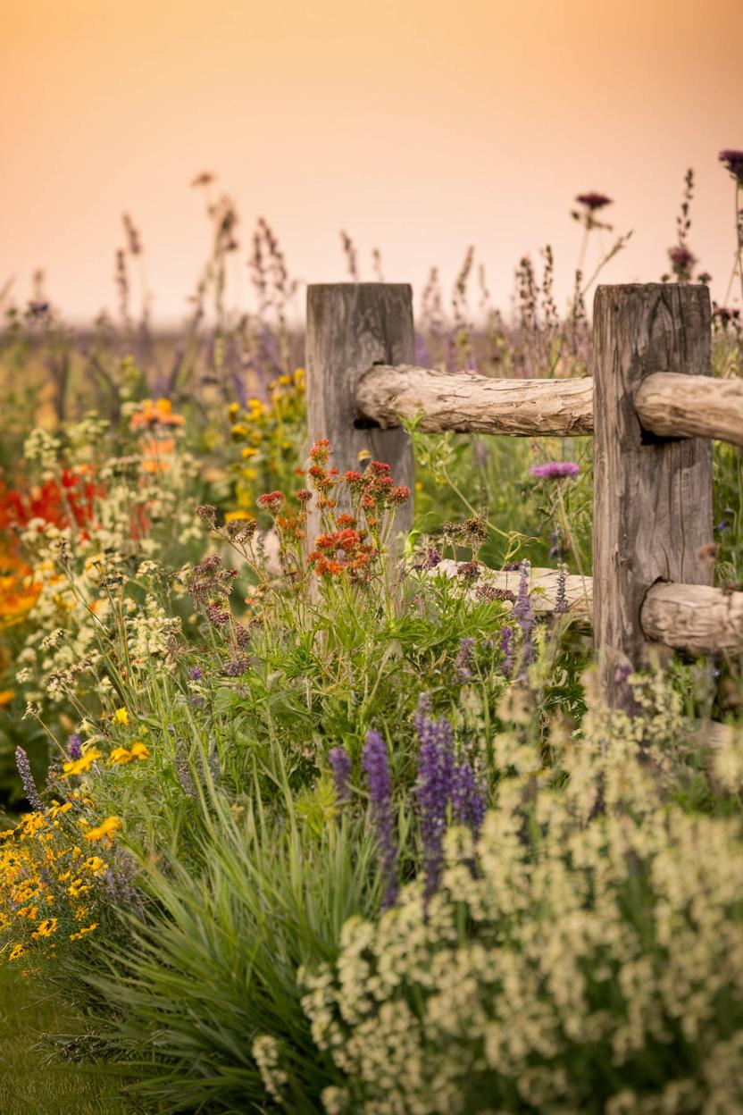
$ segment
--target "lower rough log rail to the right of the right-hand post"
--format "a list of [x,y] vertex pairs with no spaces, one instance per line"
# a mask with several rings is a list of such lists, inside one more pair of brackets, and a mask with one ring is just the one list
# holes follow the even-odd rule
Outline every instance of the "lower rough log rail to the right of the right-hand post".
[[692,655],[743,650],[743,592],[702,584],[654,584],[641,613],[647,639]]

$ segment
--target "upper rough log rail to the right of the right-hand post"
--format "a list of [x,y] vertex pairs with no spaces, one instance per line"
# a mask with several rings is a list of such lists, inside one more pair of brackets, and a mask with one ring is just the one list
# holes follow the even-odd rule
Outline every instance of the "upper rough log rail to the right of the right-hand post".
[[659,437],[715,437],[743,445],[743,381],[657,372],[643,380],[635,407]]

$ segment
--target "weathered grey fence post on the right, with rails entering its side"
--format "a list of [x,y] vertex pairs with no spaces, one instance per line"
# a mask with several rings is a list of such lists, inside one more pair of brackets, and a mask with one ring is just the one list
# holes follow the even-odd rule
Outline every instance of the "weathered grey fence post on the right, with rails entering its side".
[[643,430],[634,396],[658,371],[710,375],[706,287],[599,287],[594,301],[594,639],[602,691],[634,710],[656,581],[710,584],[712,443]]

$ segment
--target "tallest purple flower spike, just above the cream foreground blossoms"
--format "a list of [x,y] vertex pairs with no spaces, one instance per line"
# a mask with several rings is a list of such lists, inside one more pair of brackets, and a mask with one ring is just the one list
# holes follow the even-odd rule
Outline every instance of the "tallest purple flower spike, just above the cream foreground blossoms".
[[452,795],[454,775],[453,731],[446,717],[428,716],[426,696],[418,704],[414,724],[420,739],[416,799],[423,845],[423,902],[434,894],[443,870],[443,834],[447,805]]

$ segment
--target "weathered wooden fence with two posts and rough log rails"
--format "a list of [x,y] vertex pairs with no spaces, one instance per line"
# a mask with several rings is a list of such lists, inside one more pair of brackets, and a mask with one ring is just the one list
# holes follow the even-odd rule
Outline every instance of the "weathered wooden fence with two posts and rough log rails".
[[581,379],[416,367],[407,284],[310,287],[306,343],[310,437],[330,438],[340,469],[370,448],[412,489],[400,419],[417,416],[430,433],[593,435],[593,583],[576,603],[588,597],[612,707],[634,710],[627,675],[647,665],[652,642],[743,651],[743,592],[712,586],[708,555],[710,439],[743,446],[743,382],[711,378],[706,287],[599,287],[593,376]]

